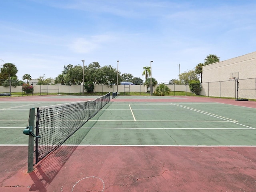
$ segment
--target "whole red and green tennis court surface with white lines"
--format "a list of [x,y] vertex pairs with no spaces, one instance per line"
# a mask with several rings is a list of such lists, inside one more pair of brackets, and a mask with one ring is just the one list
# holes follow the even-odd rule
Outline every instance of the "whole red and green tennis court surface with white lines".
[[256,191],[256,102],[229,99],[118,96],[28,173],[29,109],[96,97],[0,98],[0,191]]

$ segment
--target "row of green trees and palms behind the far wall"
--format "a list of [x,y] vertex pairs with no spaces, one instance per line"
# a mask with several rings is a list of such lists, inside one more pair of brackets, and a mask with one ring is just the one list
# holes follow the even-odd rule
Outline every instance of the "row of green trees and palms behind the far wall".
[[[192,80],[200,82],[201,78],[202,83],[202,67],[214,62],[220,61],[219,57],[213,54],[206,56],[204,63],[199,63],[196,65],[194,70],[188,70],[179,75],[179,79],[172,79],[169,81],[169,84],[189,84]],[[120,84],[122,81],[132,82],[133,84],[144,84],[147,87],[150,87],[150,71],[149,66],[143,67],[142,75],[145,76],[145,81],[139,77],[134,77],[132,74],[121,74],[120,71],[117,71],[116,68],[113,68],[111,65],[100,66],[98,62],[92,62],[84,68],[78,65],[68,64],[64,66],[61,74],[59,74],[55,79],[45,78],[45,75],[40,76],[37,80],[38,85],[49,85],[49,84],[62,84],[62,85],[81,85],[83,80],[84,72],[84,86],[85,89],[89,91],[93,90],[94,85],[96,84],[105,84],[112,87],[114,84]],[[2,86],[18,86],[22,85],[23,82],[18,80],[17,77],[18,69],[15,64],[5,63],[0,68],[0,85]],[[118,76],[118,82],[117,81]],[[24,74],[22,80],[32,80],[30,74]],[[156,86],[158,82],[155,78],[152,78],[152,86]]]

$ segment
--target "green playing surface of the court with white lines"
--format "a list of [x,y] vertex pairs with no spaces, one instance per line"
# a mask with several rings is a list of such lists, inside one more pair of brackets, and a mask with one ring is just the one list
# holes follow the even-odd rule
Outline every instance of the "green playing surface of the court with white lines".
[[[119,98],[124,97],[106,104],[76,132],[84,135],[81,145],[256,146],[256,108],[186,98],[179,98],[184,102],[154,102],[154,98],[118,102]],[[67,102],[0,101],[0,144],[27,145],[23,130],[29,108],[62,103]]]

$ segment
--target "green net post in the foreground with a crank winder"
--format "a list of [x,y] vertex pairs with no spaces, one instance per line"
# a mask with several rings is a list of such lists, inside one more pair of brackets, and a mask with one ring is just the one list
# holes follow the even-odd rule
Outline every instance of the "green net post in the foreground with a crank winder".
[[[34,132],[35,127],[35,108],[30,108],[29,126],[32,126]],[[28,173],[33,171],[34,166],[34,136],[28,136]]]

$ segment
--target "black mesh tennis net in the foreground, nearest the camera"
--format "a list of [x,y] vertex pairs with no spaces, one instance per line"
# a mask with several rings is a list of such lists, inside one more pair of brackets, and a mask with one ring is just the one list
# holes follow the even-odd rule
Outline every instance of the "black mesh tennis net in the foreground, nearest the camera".
[[38,107],[36,112],[37,164],[110,102],[110,92],[92,101]]

